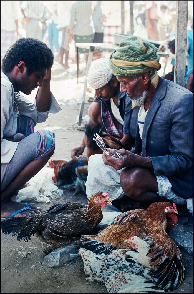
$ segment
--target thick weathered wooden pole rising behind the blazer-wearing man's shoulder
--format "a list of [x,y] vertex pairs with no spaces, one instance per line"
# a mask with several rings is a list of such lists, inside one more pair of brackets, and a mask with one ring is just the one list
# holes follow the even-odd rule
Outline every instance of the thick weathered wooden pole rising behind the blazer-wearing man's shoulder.
[[176,84],[185,87],[188,1],[176,1],[176,5],[174,81]]

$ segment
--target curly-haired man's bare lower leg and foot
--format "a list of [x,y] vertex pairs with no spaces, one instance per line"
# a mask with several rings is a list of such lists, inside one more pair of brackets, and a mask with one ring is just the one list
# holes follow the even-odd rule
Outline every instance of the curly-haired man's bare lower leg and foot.
[[[16,210],[26,207],[21,202],[11,200],[11,197],[26,182],[39,172],[53,155],[54,150],[42,158],[29,162],[21,172],[12,180],[12,182],[1,192],[1,217],[7,217]],[[31,209],[18,213],[15,217],[26,216],[31,213],[40,213],[41,208],[31,206]]]

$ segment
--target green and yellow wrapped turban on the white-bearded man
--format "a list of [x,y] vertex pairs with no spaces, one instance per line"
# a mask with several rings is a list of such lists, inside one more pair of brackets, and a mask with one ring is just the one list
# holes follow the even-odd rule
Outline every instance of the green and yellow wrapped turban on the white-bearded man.
[[121,41],[110,55],[109,65],[115,76],[128,76],[150,72],[151,82],[157,87],[157,71],[161,68],[157,48],[138,36]]

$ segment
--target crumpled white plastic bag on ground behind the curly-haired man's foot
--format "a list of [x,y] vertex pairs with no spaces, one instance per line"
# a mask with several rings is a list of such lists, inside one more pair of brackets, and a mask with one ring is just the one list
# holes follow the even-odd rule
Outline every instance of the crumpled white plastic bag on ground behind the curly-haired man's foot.
[[27,182],[27,187],[19,190],[16,201],[29,201],[49,203],[50,198],[60,198],[63,190],[58,189],[52,182],[54,169],[43,167],[34,177]]

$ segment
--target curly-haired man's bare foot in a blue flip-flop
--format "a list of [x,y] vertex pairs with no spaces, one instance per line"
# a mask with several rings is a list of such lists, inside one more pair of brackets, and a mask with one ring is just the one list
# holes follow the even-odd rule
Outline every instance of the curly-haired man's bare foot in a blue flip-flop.
[[[5,205],[1,205],[1,217],[7,217],[11,215],[12,213],[14,213],[15,211],[25,207],[26,205],[23,204],[22,202],[11,200]],[[14,217],[21,217],[21,216],[25,217],[26,215],[29,215],[29,214],[40,213],[40,211],[41,211],[41,207],[36,207],[31,205],[28,210],[24,210],[20,213],[17,213],[16,215],[14,215]]]

